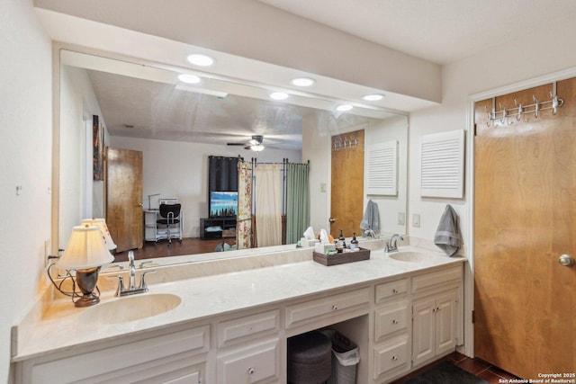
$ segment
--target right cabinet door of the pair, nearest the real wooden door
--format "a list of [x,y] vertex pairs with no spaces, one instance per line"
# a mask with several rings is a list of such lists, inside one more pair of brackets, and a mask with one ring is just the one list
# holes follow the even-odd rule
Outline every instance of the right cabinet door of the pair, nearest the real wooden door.
[[456,292],[436,299],[436,354],[452,351],[456,345]]

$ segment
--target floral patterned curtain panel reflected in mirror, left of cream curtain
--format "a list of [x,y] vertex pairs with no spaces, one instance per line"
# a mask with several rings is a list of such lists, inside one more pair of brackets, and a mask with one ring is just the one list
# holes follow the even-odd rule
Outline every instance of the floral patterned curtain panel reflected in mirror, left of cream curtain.
[[237,249],[252,247],[252,164],[238,161]]

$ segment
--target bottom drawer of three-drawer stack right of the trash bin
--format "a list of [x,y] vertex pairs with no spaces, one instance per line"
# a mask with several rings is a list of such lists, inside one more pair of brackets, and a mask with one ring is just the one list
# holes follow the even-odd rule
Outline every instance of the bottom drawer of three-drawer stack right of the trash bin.
[[404,371],[410,369],[410,344],[408,335],[392,340],[374,348],[374,379],[394,370]]

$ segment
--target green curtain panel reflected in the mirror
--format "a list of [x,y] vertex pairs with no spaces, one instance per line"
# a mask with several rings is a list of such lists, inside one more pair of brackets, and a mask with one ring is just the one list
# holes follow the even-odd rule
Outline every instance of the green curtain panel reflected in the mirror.
[[310,227],[308,164],[288,164],[286,191],[286,244],[298,243]]

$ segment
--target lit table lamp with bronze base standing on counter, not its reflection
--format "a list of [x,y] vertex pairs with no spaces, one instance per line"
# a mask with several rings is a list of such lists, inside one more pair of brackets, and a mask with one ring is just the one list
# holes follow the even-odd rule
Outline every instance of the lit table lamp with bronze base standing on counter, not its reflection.
[[76,270],[76,284],[83,293],[74,303],[76,307],[90,307],[100,298],[94,295],[100,267],[112,263],[114,256],[108,251],[103,233],[99,227],[78,226],[72,228],[72,234],[64,254],[56,266],[66,270]]

